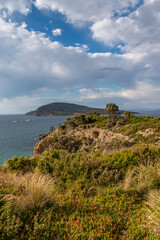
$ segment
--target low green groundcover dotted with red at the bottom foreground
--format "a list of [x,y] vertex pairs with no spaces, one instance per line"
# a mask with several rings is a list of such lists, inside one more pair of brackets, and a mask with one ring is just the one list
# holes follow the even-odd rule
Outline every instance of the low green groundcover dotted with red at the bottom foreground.
[[158,239],[145,227],[145,211],[136,192],[113,188],[95,197],[60,200],[62,207],[35,216],[28,239]]

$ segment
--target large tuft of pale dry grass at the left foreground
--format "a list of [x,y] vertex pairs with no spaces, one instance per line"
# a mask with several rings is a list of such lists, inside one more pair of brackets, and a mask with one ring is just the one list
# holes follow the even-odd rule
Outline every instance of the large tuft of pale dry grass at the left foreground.
[[48,203],[55,204],[55,183],[49,175],[40,175],[38,172],[17,175],[1,170],[0,186],[19,189],[19,192],[4,194],[2,199],[12,202],[21,210],[41,208]]

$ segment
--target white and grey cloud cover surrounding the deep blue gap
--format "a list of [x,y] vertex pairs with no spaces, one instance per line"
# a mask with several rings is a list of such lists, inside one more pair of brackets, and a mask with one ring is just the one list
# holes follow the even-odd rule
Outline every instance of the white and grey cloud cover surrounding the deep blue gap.
[[[0,2],[0,8],[27,14],[31,2],[6,0]],[[2,18],[5,19],[7,12],[3,10],[0,18],[0,111],[3,106],[13,107],[13,103],[17,104],[17,111],[18,108],[22,111],[22,106],[30,108],[32,104],[54,101],[55,98],[33,97],[42,92],[75,88],[81,89],[81,97],[75,97],[75,102],[112,99],[122,106],[158,106],[160,1],[144,0],[144,4],[130,12],[128,7],[138,2],[36,0],[35,3],[39,9],[58,10],[75,25],[89,22],[94,39],[113,47],[118,45],[123,54],[89,53],[88,46],[79,43],[64,47],[59,42],[51,42],[44,33],[29,32],[25,23],[18,26],[5,22]],[[53,34],[62,34],[61,29],[53,31]],[[111,82],[121,90],[95,87]]]

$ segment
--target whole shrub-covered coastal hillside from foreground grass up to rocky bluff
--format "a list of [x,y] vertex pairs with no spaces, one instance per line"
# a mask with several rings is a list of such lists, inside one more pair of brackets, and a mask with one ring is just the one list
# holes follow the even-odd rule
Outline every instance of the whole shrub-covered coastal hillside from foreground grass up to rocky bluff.
[[0,239],[160,239],[160,118],[75,114],[0,169]]

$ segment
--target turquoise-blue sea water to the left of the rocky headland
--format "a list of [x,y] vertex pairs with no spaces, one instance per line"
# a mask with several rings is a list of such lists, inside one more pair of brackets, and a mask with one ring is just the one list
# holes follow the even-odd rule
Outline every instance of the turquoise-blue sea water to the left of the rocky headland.
[[34,145],[41,133],[57,128],[66,116],[33,117],[0,115],[0,165],[15,156],[32,156]]

